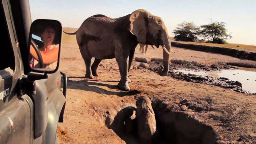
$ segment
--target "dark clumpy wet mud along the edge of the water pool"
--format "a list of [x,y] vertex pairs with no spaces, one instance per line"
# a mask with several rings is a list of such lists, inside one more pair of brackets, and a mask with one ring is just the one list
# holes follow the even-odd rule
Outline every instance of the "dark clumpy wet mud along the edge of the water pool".
[[[159,67],[161,67],[161,62],[158,61],[151,61],[148,63],[148,69],[154,72],[158,72]],[[185,80],[192,83],[200,83],[200,84],[208,84],[208,85],[215,85],[225,89],[230,89],[235,92],[240,93],[247,93],[256,95],[256,93],[247,92],[242,88],[242,84],[239,81],[232,81],[225,77],[212,77],[212,76],[199,76],[195,74],[185,74],[183,72],[178,72],[174,70],[188,68],[198,71],[213,71],[213,70],[221,70],[221,69],[236,69],[235,67],[230,67],[225,64],[213,64],[211,66],[204,66],[204,65],[193,65],[190,63],[187,64],[171,64],[168,72],[168,76],[172,76],[176,79]]]

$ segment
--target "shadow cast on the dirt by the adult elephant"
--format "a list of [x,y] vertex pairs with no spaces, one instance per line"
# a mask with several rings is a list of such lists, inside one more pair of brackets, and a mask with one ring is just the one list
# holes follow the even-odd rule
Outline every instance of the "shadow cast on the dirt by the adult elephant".
[[84,91],[90,91],[90,92],[96,92],[103,95],[117,95],[119,97],[127,96],[127,95],[135,95],[139,94],[140,91],[138,90],[131,90],[128,92],[124,91],[109,91],[103,88],[100,88],[99,86],[105,86],[108,87],[108,89],[118,90],[117,85],[112,84],[104,84],[100,82],[117,82],[117,81],[98,81],[98,80],[70,80],[70,78],[81,78],[84,79],[84,77],[76,77],[76,76],[69,76],[68,77],[68,89],[74,89],[74,90],[84,90]]

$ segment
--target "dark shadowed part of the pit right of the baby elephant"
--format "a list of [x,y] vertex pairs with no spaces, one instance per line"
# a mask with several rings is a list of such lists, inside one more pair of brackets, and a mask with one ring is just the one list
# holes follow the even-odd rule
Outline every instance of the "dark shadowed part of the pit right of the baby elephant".
[[196,117],[172,110],[172,106],[157,101],[152,103],[156,114],[159,139],[172,144],[214,144],[217,141],[211,126],[199,122]]

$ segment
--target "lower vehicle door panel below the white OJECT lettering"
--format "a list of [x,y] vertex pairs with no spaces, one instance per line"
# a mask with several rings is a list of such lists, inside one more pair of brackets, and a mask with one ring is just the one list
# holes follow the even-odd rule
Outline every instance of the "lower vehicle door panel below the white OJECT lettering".
[[28,101],[31,101],[28,95],[23,95],[0,112],[1,144],[30,143],[31,111]]

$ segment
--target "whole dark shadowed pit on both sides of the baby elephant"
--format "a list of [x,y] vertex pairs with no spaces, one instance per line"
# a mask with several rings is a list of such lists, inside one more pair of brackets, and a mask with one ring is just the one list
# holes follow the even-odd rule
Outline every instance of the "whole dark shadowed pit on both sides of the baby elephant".
[[[184,101],[183,104],[185,105]],[[106,126],[127,144],[140,144],[137,129],[132,129],[130,133],[126,132],[127,125],[130,128],[134,127],[134,125],[124,122],[127,115],[132,119],[135,118],[135,111],[132,110],[132,113],[130,111],[130,114],[127,114],[127,109],[131,108],[132,106],[129,106],[120,110],[111,124],[108,117],[105,122]],[[157,136],[152,139],[152,144],[215,144],[218,140],[218,136],[211,126],[200,122],[196,117],[172,108],[171,105],[165,104],[161,100],[153,100],[152,108],[155,112],[158,131]],[[109,114],[109,112],[107,113]]]

